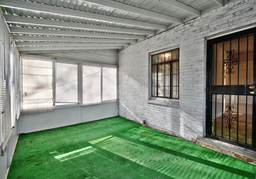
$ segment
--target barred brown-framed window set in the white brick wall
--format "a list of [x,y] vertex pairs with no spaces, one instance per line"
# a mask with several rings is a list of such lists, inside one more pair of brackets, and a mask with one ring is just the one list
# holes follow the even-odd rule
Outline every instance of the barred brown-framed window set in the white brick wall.
[[179,98],[179,49],[151,56],[151,96]]

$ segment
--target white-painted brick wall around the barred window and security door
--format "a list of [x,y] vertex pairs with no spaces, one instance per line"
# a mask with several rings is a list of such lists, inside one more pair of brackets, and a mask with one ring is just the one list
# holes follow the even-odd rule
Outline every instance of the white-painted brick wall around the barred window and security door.
[[[206,40],[256,24],[256,0],[237,0],[170,30],[120,50],[118,113],[171,135],[193,141],[205,133]],[[148,53],[180,48],[180,99],[177,106],[148,103]]]

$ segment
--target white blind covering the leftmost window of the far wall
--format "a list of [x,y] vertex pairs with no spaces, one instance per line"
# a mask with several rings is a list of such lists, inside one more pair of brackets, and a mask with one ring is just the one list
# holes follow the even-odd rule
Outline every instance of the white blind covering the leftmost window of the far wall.
[[53,110],[52,62],[22,57],[22,115]]

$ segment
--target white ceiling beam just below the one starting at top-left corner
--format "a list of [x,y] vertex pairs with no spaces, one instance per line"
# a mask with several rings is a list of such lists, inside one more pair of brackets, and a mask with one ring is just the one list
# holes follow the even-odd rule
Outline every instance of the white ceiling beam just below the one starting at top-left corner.
[[53,26],[53,27],[64,27],[64,28],[77,28],[77,29],[87,29],[87,30],[100,30],[103,32],[124,32],[124,33],[132,33],[132,34],[156,34],[154,31],[149,30],[138,30],[138,29],[128,29],[128,28],[117,28],[110,26],[99,26],[92,24],[82,24],[76,22],[65,22],[60,20],[48,20],[48,19],[40,19],[40,18],[30,18],[23,16],[13,16],[13,15],[5,15],[6,22],[9,23],[19,23],[19,24],[33,24],[40,26]]

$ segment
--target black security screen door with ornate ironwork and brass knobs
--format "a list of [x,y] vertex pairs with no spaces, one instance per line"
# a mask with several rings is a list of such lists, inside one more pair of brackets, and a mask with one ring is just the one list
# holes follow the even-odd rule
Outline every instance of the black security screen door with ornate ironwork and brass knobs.
[[256,29],[208,41],[207,134],[256,148]]

